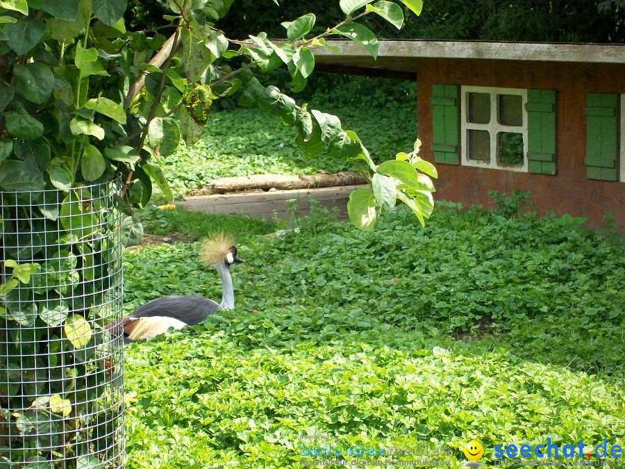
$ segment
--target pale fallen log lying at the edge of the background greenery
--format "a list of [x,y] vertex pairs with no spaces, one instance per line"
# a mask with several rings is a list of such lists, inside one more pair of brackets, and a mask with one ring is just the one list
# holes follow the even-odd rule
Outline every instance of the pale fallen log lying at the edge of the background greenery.
[[328,188],[335,186],[357,186],[365,184],[365,178],[353,172],[336,174],[252,174],[215,179],[208,186],[192,190],[188,196],[227,194],[245,190],[294,190],[309,188]]

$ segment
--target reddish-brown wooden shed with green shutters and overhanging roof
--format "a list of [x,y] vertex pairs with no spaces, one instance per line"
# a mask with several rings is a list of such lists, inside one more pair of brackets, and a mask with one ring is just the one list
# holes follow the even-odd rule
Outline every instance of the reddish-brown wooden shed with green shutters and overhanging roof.
[[569,213],[625,231],[625,46],[519,42],[353,42],[317,53],[317,68],[417,80],[422,157],[437,198],[490,203],[532,193],[539,213]]

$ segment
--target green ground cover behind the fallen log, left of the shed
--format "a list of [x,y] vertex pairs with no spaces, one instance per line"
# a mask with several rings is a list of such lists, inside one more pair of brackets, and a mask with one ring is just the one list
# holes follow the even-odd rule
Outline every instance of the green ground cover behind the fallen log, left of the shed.
[[[275,78],[279,81],[281,76]],[[315,92],[303,98],[315,108],[340,115],[345,126],[368,143],[376,163],[394,158],[397,151],[412,149],[417,139],[415,83],[351,77],[337,88],[324,86],[322,79],[311,85]],[[225,176],[354,170],[353,163],[326,151],[306,156],[292,140],[292,129],[258,109],[231,108],[232,101],[224,102],[228,108],[213,113],[196,145],[181,145],[163,160],[163,172],[176,195]]]

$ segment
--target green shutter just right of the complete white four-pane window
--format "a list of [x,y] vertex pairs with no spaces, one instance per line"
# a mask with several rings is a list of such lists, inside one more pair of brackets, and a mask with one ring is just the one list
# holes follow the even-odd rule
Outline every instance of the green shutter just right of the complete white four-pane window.
[[556,92],[527,90],[528,172],[556,174]]

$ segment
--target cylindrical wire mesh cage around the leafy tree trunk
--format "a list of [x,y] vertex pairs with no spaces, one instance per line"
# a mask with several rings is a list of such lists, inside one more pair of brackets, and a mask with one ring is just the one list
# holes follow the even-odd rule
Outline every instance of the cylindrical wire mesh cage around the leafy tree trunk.
[[0,467],[124,467],[119,189],[0,192]]

